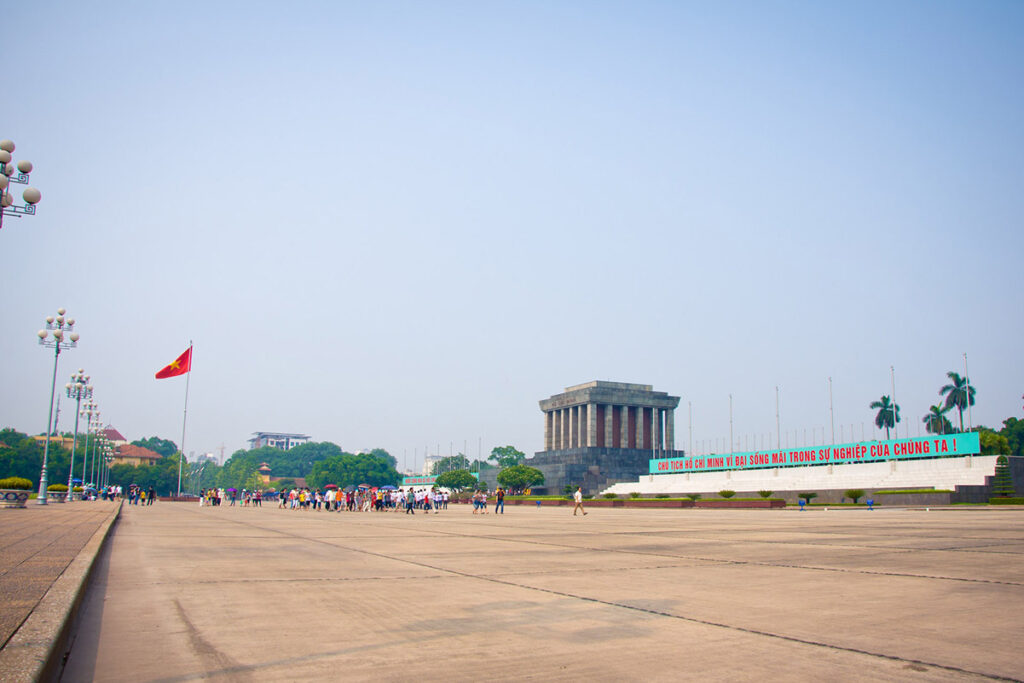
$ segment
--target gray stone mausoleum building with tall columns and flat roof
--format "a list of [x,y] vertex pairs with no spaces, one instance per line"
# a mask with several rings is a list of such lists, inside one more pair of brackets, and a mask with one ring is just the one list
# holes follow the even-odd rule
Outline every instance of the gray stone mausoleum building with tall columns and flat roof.
[[566,484],[596,494],[647,474],[651,458],[685,455],[674,447],[679,396],[649,384],[587,382],[540,403],[545,450],[525,464],[544,472],[549,494]]

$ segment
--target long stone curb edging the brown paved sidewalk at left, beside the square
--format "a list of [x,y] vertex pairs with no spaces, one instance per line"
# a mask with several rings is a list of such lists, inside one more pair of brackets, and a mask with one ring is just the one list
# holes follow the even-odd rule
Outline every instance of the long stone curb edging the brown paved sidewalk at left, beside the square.
[[85,590],[123,506],[121,501],[0,650],[0,681],[59,680]]

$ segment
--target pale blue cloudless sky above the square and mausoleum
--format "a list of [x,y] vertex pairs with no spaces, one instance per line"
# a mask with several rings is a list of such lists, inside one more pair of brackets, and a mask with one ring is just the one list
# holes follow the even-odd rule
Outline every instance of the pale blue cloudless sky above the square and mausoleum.
[[[593,379],[700,450],[915,434],[969,354],[1021,415],[1019,2],[23,2],[0,137],[0,423],[45,428],[67,306],[129,438],[304,432],[413,464],[543,447]],[[61,428],[71,428],[63,405]],[[794,436],[796,434],[796,436]],[[819,436],[820,439],[820,436]],[[740,442],[739,446],[743,443]]]

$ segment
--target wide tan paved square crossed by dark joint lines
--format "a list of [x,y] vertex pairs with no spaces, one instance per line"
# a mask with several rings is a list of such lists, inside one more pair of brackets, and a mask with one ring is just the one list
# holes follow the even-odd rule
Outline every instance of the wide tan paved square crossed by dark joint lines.
[[126,506],[65,680],[1024,678],[1024,511]]

